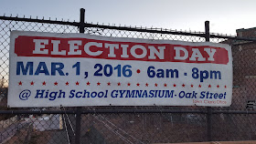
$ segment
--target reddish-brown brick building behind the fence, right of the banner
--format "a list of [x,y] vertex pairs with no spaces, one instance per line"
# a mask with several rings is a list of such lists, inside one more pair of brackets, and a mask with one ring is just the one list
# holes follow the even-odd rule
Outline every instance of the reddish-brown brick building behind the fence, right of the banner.
[[[256,38],[256,27],[237,29],[237,36]],[[232,107],[246,108],[248,100],[256,100],[256,41],[231,40],[233,55]]]

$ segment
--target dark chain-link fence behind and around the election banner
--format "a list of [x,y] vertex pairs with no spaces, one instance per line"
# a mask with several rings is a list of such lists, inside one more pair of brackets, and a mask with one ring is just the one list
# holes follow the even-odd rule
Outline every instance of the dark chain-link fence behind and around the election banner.
[[[208,24],[208,23],[206,23]],[[83,107],[7,108],[12,30],[226,43],[232,47],[233,98],[229,108]],[[256,45],[254,33],[223,36],[154,27],[0,16],[0,143],[175,143],[255,140]],[[255,35],[256,36],[256,35]]]

